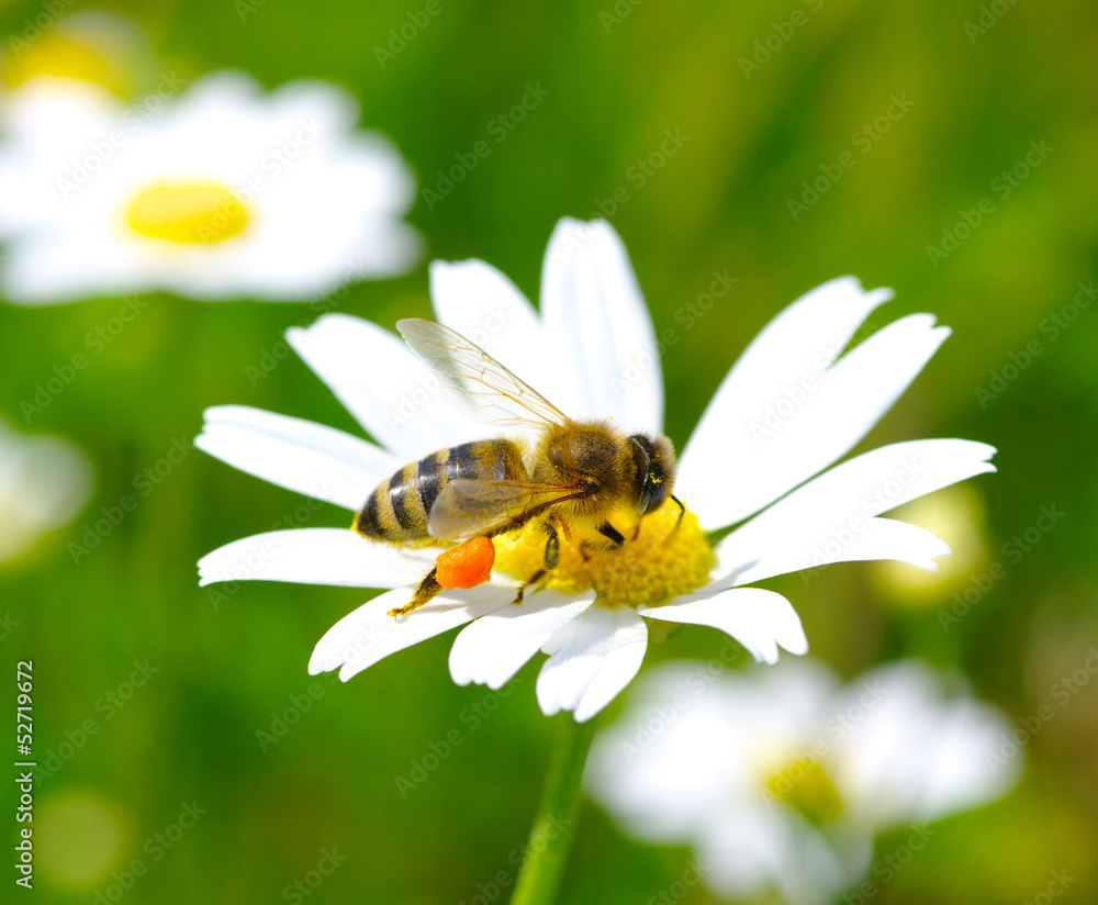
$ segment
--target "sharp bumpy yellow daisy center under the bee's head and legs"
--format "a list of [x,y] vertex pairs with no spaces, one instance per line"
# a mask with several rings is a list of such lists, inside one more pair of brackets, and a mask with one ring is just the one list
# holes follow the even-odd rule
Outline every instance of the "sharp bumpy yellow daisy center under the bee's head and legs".
[[[559,565],[540,583],[567,594],[593,588],[609,606],[653,606],[688,594],[708,579],[713,548],[693,513],[683,514],[681,523],[679,516],[671,500],[639,523],[628,512],[615,513],[610,524],[625,535],[617,550],[607,549],[606,538],[594,530],[581,535],[570,526],[571,540],[558,532]],[[546,536],[540,526],[493,540],[497,570],[527,579],[542,568]]]

